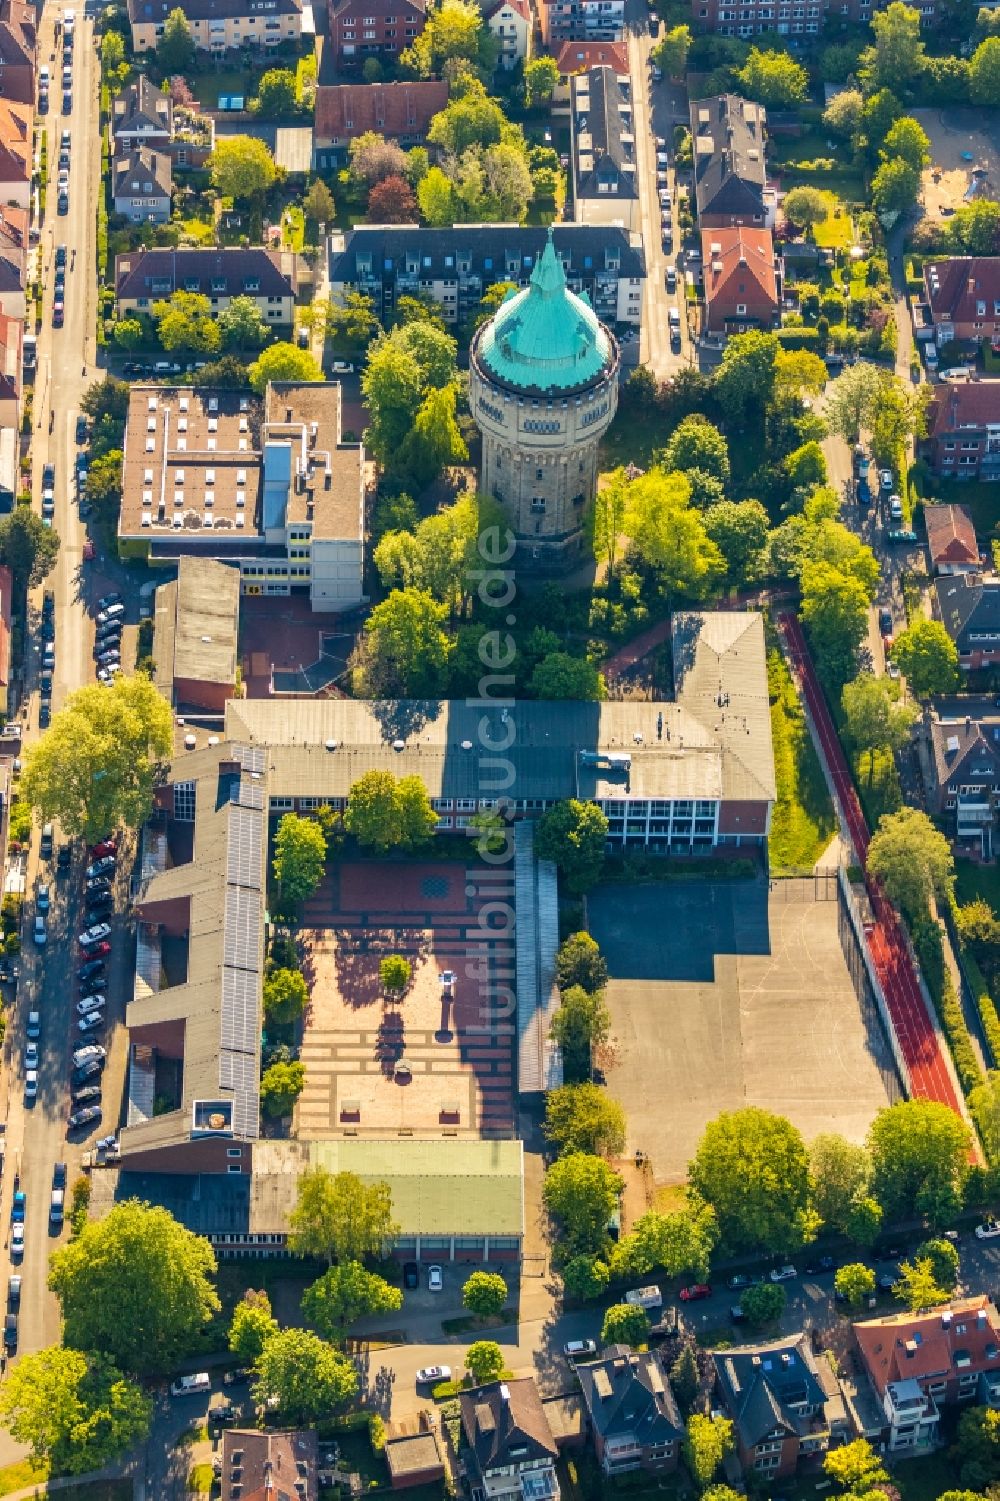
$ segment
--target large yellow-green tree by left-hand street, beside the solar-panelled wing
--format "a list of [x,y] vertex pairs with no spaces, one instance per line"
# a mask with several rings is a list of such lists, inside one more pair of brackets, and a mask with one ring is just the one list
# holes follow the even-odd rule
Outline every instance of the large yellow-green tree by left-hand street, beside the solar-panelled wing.
[[156,763],[173,747],[170,704],[144,672],[80,687],[27,752],[21,796],[71,839],[95,844],[153,806]]

